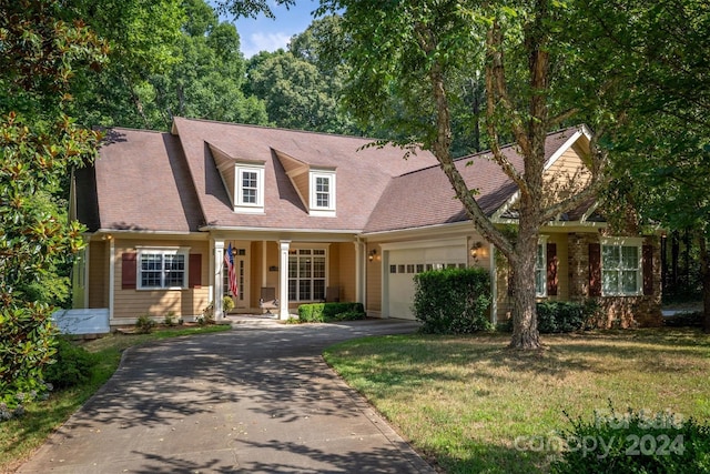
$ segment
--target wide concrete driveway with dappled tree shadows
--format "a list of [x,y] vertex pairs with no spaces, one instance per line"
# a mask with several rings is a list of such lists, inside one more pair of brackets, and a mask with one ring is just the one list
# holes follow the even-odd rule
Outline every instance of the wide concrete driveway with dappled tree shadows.
[[20,473],[433,473],[323,362],[412,322],[255,325],[126,352]]

